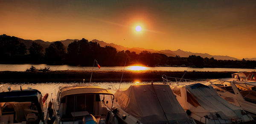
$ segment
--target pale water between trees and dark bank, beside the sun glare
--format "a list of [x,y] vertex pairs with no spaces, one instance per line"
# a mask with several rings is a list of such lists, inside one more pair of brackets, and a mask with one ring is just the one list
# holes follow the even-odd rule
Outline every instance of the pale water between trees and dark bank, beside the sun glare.
[[[0,64],[0,71],[25,71],[27,68],[31,66],[35,68],[44,68],[49,67],[50,70],[92,70],[92,67],[84,67],[84,66],[70,66],[70,65],[46,65],[46,64]],[[131,67],[125,67],[125,70],[130,70]],[[184,71],[187,70],[188,67],[147,67],[145,70],[154,70],[154,71]],[[100,69],[94,67],[95,71],[116,71],[123,70],[122,66],[115,67],[101,67]],[[245,69],[245,68],[189,68],[188,71],[256,71],[256,69]]]

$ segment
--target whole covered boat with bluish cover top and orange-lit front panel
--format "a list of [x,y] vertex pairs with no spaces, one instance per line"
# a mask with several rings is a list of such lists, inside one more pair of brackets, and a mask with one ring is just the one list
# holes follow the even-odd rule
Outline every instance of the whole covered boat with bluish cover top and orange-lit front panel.
[[203,124],[232,124],[253,121],[240,107],[222,99],[212,87],[197,83],[172,87],[180,105],[195,121]]

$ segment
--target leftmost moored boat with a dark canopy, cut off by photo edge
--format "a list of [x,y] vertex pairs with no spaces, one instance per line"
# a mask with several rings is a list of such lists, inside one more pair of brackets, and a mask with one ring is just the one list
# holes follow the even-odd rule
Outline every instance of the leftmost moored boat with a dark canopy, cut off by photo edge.
[[0,124],[44,124],[40,91],[12,90],[0,93]]

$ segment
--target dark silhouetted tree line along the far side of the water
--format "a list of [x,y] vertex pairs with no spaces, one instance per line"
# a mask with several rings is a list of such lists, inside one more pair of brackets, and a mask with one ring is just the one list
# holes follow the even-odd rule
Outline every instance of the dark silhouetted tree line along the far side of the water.
[[96,59],[101,66],[123,66],[142,64],[146,66],[189,66],[209,68],[255,68],[256,61],[216,60],[191,55],[189,57],[166,56],[165,54],[142,51],[116,51],[111,46],[101,47],[97,42],[81,39],[71,42],[67,48],[62,42],[52,42],[47,48],[32,42],[29,48],[17,37],[0,35],[0,63],[5,64],[49,64],[92,66]]

